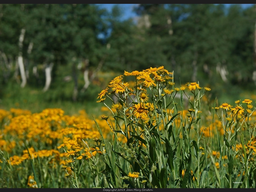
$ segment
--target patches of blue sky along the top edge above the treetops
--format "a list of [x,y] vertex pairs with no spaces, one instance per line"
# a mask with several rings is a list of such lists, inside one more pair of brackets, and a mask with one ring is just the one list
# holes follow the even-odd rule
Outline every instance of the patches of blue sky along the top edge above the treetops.
[[[108,11],[111,11],[112,7],[116,4],[98,4],[102,8],[106,8]],[[136,16],[134,12],[132,12],[133,7],[138,6],[138,4],[118,4],[123,9],[123,16],[122,20],[126,20],[129,18],[133,18]],[[231,4],[225,4],[227,6],[230,6]],[[247,8],[249,6],[252,6],[253,4],[241,4],[243,8]]]

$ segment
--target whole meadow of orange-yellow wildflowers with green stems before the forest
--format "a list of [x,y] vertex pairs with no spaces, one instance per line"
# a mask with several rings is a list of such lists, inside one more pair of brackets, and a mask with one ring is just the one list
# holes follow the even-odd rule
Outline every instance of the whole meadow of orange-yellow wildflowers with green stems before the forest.
[[0,109],[0,188],[255,188],[255,101],[217,105],[173,78],[124,71],[99,117]]

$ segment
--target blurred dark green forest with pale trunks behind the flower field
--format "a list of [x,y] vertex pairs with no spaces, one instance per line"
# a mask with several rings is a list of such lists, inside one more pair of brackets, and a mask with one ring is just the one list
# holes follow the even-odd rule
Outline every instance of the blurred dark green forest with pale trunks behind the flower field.
[[[0,4],[0,108],[97,114],[107,82],[164,66],[209,102],[256,99],[256,8],[240,4]],[[125,77],[126,81],[130,79]]]

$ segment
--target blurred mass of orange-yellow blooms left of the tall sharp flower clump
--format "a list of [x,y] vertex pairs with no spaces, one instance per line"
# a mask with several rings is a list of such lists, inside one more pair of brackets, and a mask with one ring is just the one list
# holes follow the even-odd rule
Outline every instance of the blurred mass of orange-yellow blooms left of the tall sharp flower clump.
[[[67,116],[63,110],[57,108],[47,108],[34,114],[28,110],[1,109],[0,120],[5,118],[8,118],[8,121],[2,125],[3,129],[0,129],[0,149],[9,153],[7,163],[12,166],[20,165],[30,158],[50,156],[58,164],[65,165],[69,161],[64,159],[70,155],[76,154],[76,159],[82,159],[101,153],[98,148],[88,150],[82,141],[100,136],[94,121],[87,117],[85,111],[80,111],[79,116]],[[100,120],[99,124],[107,127],[104,122]],[[20,147],[25,148],[24,140],[33,143],[33,147],[20,151]],[[61,148],[65,148],[67,152]],[[1,159],[0,163],[3,163]],[[33,182],[28,183],[29,187],[34,185]]]

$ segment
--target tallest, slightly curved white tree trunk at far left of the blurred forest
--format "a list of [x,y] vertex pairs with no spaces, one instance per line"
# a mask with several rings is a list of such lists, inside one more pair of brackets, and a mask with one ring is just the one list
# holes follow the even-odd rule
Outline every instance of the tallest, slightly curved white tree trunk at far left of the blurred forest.
[[25,29],[21,29],[20,32],[20,39],[19,39],[19,57],[18,57],[18,64],[19,64],[19,68],[20,68],[20,76],[22,79],[22,82],[20,84],[21,87],[25,87],[25,85],[27,84],[27,77],[26,77],[26,73],[25,73],[25,68],[24,68],[24,63],[23,63],[23,57],[22,57],[22,47],[23,47],[23,41],[24,41],[24,36],[25,36]]

